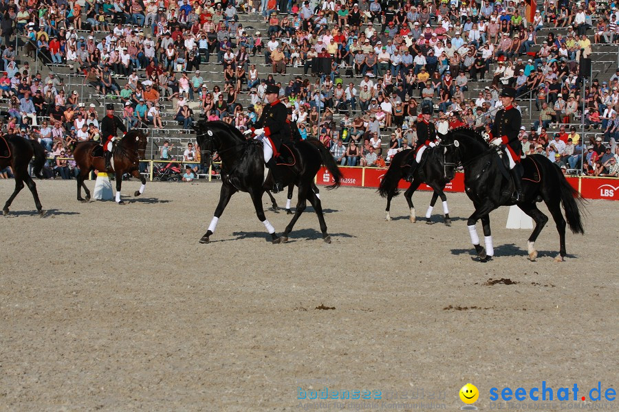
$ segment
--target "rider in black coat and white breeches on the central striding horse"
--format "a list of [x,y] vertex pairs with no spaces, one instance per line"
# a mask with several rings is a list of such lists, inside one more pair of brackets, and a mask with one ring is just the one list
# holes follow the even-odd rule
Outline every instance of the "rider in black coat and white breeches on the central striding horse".
[[254,139],[262,141],[264,163],[271,170],[275,181],[272,192],[277,193],[283,190],[283,186],[279,171],[275,167],[275,157],[279,155],[279,146],[283,137],[290,136],[290,124],[286,120],[288,109],[279,101],[279,87],[274,84],[268,85],[265,97],[269,104],[263,108],[258,122],[245,134],[251,134]]

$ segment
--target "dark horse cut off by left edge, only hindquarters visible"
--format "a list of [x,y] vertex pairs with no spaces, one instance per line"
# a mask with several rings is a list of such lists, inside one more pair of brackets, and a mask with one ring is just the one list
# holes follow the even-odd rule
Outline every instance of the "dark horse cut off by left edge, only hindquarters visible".
[[34,155],[33,172],[39,179],[43,177],[41,176],[41,170],[45,164],[45,150],[43,150],[43,146],[36,140],[26,140],[17,135],[5,135],[3,137],[8,144],[8,148],[3,141],[0,141],[2,148],[0,150],[0,170],[10,166],[15,175],[15,190],[4,205],[4,209],[2,209],[3,214],[8,214],[9,206],[15,196],[23,189],[23,183],[25,182],[30,192],[32,192],[39,216],[45,216],[45,211],[43,211],[43,206],[41,206],[41,201],[39,201],[39,194],[36,192],[36,185],[30,174],[28,174],[28,163],[30,163],[30,159]]

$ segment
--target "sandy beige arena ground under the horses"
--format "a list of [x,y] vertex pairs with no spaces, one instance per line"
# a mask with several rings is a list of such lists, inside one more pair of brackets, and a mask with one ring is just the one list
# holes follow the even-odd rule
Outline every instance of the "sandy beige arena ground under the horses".
[[[2,204],[13,185],[0,181]],[[530,262],[530,231],[505,229],[508,208],[495,211],[495,260],[483,264],[464,194],[448,195],[446,227],[413,225],[402,197],[384,222],[373,190],[323,190],[332,244],[308,208],[278,245],[237,194],[214,242],[199,244],[219,183],[149,183],[124,206],[78,203],[75,181],[37,185],[46,218],[28,190],[0,218],[2,411],[457,411],[466,382],[489,411],[490,388],[543,380],[555,396],[576,383],[578,407],[598,382],[618,383],[619,203],[589,203],[587,234],[568,234],[563,263],[552,219]],[[124,183],[124,194],[138,187]],[[415,194],[417,216],[429,198]],[[267,216],[279,233],[290,220]],[[309,399],[325,387],[381,399]],[[512,408],[524,403],[562,405]]]

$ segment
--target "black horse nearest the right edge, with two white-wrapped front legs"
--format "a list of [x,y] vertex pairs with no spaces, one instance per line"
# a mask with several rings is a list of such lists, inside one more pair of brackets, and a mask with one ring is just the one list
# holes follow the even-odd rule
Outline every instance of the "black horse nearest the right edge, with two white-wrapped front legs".
[[[512,193],[514,183],[507,178],[506,167],[501,165],[503,159],[495,148],[488,144],[479,133],[470,128],[450,130],[442,141],[449,151],[455,153],[464,167],[464,187],[466,194],[475,205],[475,212],[468,218],[468,230],[471,242],[482,262],[494,255],[492,235],[490,233],[490,211],[499,206],[514,205]],[[523,200],[515,203],[535,221],[535,228],[527,242],[530,260],[537,258],[534,242],[539,236],[548,217],[543,214],[536,202],[544,201],[559,233],[559,255],[555,258],[561,262],[565,258],[565,219],[561,207],[565,209],[567,225],[574,233],[584,233],[580,219],[580,209],[583,200],[578,190],[567,183],[565,176],[554,163],[542,155],[531,155],[522,160],[523,167]],[[475,223],[481,219],[484,227],[486,248],[479,244]]]

